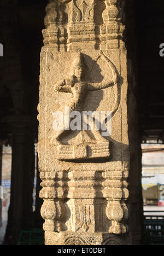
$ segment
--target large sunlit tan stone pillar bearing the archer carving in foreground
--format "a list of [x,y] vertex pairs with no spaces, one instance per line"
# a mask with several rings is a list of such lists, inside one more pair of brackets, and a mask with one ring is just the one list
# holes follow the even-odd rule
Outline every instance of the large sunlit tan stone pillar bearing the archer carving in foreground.
[[46,8],[38,143],[46,245],[132,243],[124,3]]

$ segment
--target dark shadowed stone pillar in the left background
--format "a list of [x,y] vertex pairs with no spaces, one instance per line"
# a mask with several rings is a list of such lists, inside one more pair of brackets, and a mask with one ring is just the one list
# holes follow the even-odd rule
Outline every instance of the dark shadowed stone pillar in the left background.
[[12,132],[11,197],[5,241],[16,245],[21,229],[33,227],[34,138],[29,117],[8,119]]

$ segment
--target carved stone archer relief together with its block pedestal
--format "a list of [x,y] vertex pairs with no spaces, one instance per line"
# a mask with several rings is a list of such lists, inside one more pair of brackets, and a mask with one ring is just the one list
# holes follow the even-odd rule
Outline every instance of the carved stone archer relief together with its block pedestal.
[[[102,137],[101,133],[96,129],[92,131],[92,136],[82,129],[82,127],[84,127],[82,120],[84,113],[84,101],[85,96],[89,91],[98,91],[114,86],[115,103],[113,109],[111,109],[111,114],[113,115],[119,107],[118,87],[120,86],[120,79],[118,71],[113,63],[103,54],[103,52],[101,52],[96,57],[91,69],[94,69],[100,58],[106,62],[104,65],[107,65],[109,71],[111,71],[111,79],[103,79],[101,83],[91,83],[90,80],[86,80],[84,57],[81,53],[78,53],[73,61],[73,72],[68,78],[54,86],[54,89],[58,92],[72,94],[71,101],[69,101],[67,106],[69,107],[70,112],[77,111],[80,113],[80,130],[82,130],[74,137],[75,141],[73,141],[73,145],[62,142],[62,140],[64,141],[65,133],[73,133],[70,131],[70,123],[67,124],[65,130],[61,130],[58,133],[57,137],[52,137],[51,144],[57,146],[57,156],[59,160],[106,158],[110,156],[109,140],[107,138]],[[86,121],[85,125],[89,126],[89,123]]]

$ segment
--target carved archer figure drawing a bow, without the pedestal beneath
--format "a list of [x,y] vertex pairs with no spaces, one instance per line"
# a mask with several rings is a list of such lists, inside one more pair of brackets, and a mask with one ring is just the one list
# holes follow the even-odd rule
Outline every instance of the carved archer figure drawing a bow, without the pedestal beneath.
[[[83,55],[78,53],[75,56],[73,63],[73,74],[68,79],[64,79],[62,82],[55,85],[55,90],[58,92],[71,93],[72,98],[71,102],[67,104],[69,106],[70,112],[78,111],[83,114],[84,111],[84,100],[85,96],[89,91],[96,91],[109,88],[110,86],[115,86],[115,104],[112,110],[112,114],[118,108],[118,84],[119,84],[119,74],[116,71],[113,63],[101,52],[101,55],[97,57],[97,60],[103,56],[106,62],[108,63],[111,71],[112,71],[112,79],[108,81],[103,81],[101,83],[91,83],[84,78],[84,69],[85,63],[83,59]],[[82,115],[83,116],[83,115]],[[69,124],[70,125],[70,124]],[[89,124],[87,124],[89,126]],[[52,144],[62,144],[61,136],[63,133],[68,132],[69,127],[65,127],[65,130],[59,132],[58,136],[51,139]],[[101,133],[97,130],[92,131],[93,135],[96,139],[100,139],[101,142],[108,142],[107,138],[101,136]]]

